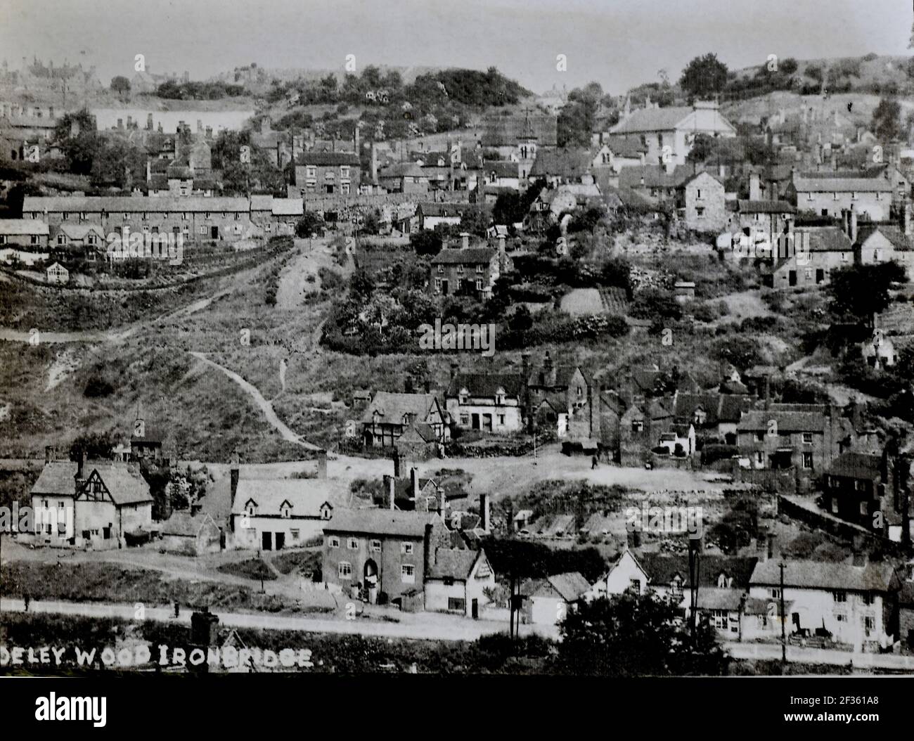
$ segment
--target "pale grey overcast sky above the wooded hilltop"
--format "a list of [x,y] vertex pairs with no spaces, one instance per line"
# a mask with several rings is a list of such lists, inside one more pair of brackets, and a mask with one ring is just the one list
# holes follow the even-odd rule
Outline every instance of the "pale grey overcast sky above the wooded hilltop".
[[[715,51],[731,69],[769,54],[909,54],[908,0],[0,0],[0,54],[95,64],[101,80],[193,79],[261,67],[491,65],[536,92],[596,79],[620,93]],[[84,52],[84,54],[82,53]],[[568,57],[568,71],[556,57]]]

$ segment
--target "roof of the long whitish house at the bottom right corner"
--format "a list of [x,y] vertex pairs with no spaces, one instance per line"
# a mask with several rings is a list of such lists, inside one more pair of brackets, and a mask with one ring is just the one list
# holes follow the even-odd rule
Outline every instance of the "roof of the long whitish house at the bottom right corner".
[[[898,588],[893,567],[887,563],[868,562],[866,566],[823,563],[819,561],[785,561],[784,586],[805,589],[891,592]],[[780,561],[760,561],[752,572],[752,585],[775,587],[781,583]]]

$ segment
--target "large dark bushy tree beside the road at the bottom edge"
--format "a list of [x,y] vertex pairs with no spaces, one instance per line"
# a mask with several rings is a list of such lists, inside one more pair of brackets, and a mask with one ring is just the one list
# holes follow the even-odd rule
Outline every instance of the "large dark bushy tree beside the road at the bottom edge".
[[679,610],[653,592],[584,602],[561,623],[559,672],[613,677],[720,675],[729,658],[699,619],[695,641]]

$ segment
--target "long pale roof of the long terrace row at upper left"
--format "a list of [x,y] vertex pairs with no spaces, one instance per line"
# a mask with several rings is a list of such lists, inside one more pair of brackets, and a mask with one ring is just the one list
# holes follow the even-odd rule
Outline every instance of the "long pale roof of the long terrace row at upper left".
[[203,196],[161,196],[139,198],[133,196],[26,196],[22,212],[43,211],[68,213],[119,213],[119,212],[184,212],[184,211],[250,211],[247,198]]

